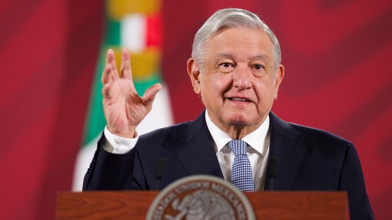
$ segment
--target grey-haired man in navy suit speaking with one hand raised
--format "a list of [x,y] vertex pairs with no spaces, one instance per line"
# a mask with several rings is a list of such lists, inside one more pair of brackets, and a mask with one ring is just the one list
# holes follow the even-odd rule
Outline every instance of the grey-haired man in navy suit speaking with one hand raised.
[[[102,74],[104,134],[88,169],[86,190],[157,190],[189,175],[224,178],[241,191],[263,190],[277,158],[276,190],[343,190],[352,219],[373,219],[358,155],[352,143],[328,132],[287,123],[271,112],[284,77],[280,46],[257,15],[223,9],[197,31],[187,70],[206,110],[195,121],[138,136],[159,84],[140,97],[129,52],[119,72],[108,50]],[[239,175],[243,172],[244,175]]]

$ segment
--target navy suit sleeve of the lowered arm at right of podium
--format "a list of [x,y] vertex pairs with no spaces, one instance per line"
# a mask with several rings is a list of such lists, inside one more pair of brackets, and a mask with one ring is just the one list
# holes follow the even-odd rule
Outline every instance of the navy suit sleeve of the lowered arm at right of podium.
[[348,143],[344,156],[339,190],[347,191],[352,220],[373,220],[373,212],[366,193],[364,175],[355,147]]

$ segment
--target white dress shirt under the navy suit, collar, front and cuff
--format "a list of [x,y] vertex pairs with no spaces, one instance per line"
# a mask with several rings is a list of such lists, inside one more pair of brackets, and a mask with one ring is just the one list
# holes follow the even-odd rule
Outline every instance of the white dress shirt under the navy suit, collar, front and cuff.
[[[221,166],[223,177],[226,181],[230,181],[231,166],[234,162],[234,153],[229,149],[227,143],[232,138],[221,131],[210,119],[208,111],[205,111],[205,121],[208,130],[214,139],[214,148],[217,153],[218,161]],[[105,127],[104,134],[106,140],[103,142],[103,149],[114,154],[125,154],[135,147],[139,139],[137,135],[135,138],[125,138],[112,134]],[[249,147],[246,153],[249,157],[250,165],[252,166],[252,176],[255,190],[263,190],[266,181],[268,154],[270,146],[270,116],[268,115],[263,124],[254,132],[249,133],[242,138]]]

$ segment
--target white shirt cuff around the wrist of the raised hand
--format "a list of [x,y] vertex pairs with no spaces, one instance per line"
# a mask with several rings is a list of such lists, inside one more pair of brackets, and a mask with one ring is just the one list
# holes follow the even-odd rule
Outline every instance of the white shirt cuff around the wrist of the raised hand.
[[136,137],[134,138],[120,137],[109,132],[107,126],[105,126],[103,133],[105,134],[105,141],[102,147],[105,151],[113,154],[128,153],[130,150],[132,150],[135,147],[136,142],[139,139],[139,135],[136,131],[135,131]]

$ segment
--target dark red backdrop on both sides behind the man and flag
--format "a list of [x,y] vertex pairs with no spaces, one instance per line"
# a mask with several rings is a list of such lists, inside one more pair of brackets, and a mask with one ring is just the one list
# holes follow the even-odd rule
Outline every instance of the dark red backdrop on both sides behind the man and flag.
[[[258,13],[281,43],[286,77],[274,112],[353,141],[375,216],[392,219],[392,1],[164,1],[176,122],[203,108],[185,68],[193,35],[228,6]],[[56,192],[71,189],[102,14],[102,0],[0,4],[1,219],[52,219]]]

